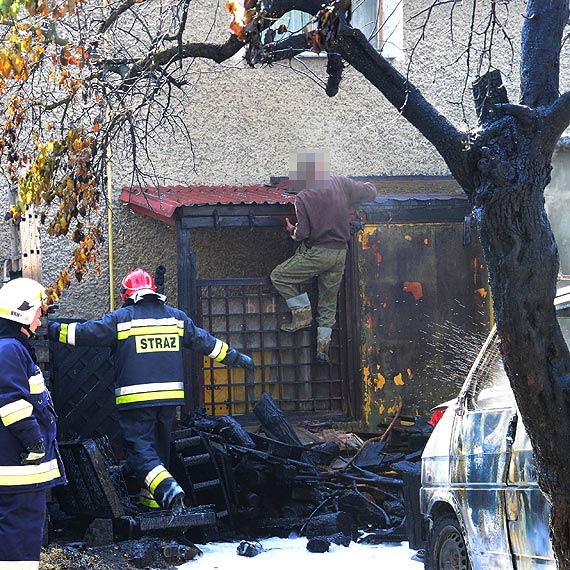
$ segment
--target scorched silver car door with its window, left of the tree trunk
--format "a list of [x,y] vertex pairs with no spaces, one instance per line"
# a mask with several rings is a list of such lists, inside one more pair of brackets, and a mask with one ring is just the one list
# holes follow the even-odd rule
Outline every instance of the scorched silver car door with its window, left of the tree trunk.
[[517,418],[496,335],[459,397],[450,458],[451,488],[474,568],[513,568],[505,511]]

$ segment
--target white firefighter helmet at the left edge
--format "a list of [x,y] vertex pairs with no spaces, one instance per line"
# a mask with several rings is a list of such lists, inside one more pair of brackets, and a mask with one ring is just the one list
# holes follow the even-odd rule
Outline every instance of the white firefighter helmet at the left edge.
[[0,318],[31,325],[40,308],[46,307],[43,286],[27,277],[8,281],[0,289]]

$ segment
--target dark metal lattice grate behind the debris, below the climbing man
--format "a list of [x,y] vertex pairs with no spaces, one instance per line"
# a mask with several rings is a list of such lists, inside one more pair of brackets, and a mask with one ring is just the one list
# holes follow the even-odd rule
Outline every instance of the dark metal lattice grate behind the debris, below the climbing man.
[[264,392],[286,413],[346,412],[346,350],[341,350],[338,326],[333,331],[332,364],[317,365],[315,329],[293,334],[280,330],[289,311],[267,279],[198,281],[197,286],[198,322],[250,355],[256,365],[246,373],[204,358],[200,380],[208,414],[250,414]]

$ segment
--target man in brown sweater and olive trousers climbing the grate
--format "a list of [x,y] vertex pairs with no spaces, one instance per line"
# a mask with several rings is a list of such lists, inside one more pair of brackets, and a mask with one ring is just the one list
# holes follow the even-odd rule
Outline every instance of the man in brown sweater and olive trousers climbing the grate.
[[350,240],[350,208],[374,200],[376,188],[370,182],[331,176],[323,151],[300,152],[294,156],[292,166],[291,188],[298,192],[297,223],[287,219],[287,231],[301,244],[292,257],[271,272],[271,281],[292,313],[291,322],[281,329],[294,332],[311,326],[313,320],[309,297],[300,292],[299,285],[318,278],[316,360],[328,363],[337,294]]

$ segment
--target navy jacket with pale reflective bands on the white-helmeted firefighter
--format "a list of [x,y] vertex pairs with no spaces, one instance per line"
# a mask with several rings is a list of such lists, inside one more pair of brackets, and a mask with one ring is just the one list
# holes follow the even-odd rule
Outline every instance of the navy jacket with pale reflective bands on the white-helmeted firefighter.
[[[56,443],[56,415],[43,374],[16,339],[0,338],[0,493],[65,483]],[[43,440],[40,465],[21,465],[20,454]]]

